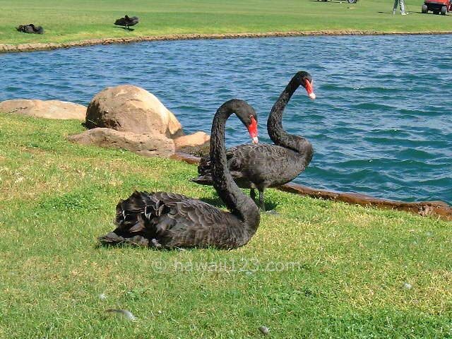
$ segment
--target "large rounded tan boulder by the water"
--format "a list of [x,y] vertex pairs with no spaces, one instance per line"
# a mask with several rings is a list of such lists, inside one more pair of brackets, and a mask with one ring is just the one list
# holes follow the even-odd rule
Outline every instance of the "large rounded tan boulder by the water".
[[106,127],[123,132],[183,136],[182,125],[155,95],[133,85],[102,90],[91,100],[86,127]]

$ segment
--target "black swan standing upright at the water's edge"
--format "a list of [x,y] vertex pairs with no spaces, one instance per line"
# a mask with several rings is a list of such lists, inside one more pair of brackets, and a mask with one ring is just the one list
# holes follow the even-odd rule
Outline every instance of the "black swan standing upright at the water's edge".
[[[234,181],[244,189],[251,189],[251,198],[256,198],[254,189],[259,191],[259,203],[265,211],[263,191],[267,187],[280,186],[295,179],[312,160],[314,149],[302,136],[294,136],[283,130],[283,112],[290,97],[302,85],[311,99],[316,95],[312,89],[312,77],[299,71],[287,84],[283,93],[271,109],[267,120],[267,130],[275,145],[238,145],[226,151],[227,166]],[[212,184],[211,162],[203,157],[198,166],[199,176],[192,182],[203,185]]]

